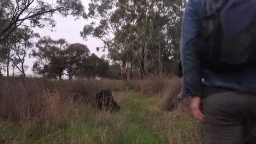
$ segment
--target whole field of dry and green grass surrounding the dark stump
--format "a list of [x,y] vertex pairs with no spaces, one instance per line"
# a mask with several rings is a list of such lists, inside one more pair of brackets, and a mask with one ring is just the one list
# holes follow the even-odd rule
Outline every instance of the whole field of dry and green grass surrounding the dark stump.
[[[186,107],[165,111],[173,101],[163,101],[178,94],[178,78],[0,81],[0,143],[204,143],[200,123]],[[115,91],[120,112],[97,112],[91,107],[93,96],[105,88]]]

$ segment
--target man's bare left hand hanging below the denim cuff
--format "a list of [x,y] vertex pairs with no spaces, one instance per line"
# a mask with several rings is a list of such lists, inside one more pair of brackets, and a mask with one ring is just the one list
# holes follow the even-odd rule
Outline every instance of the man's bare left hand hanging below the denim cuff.
[[193,115],[201,120],[201,121],[205,121],[205,116],[203,115],[202,113],[202,101],[201,101],[201,98],[196,96],[196,97],[193,97],[192,98],[192,101],[191,101],[191,104],[190,104],[190,107],[192,109],[192,112],[193,112]]

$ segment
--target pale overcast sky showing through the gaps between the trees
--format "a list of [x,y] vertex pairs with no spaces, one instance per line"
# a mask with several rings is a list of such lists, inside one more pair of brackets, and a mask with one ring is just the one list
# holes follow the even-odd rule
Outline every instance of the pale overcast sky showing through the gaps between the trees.
[[[52,0],[45,0],[48,2],[51,2]],[[88,10],[88,3],[90,3],[90,0],[82,0],[83,4],[85,6],[85,10]],[[95,53],[98,56],[102,56],[103,54],[106,54],[99,51],[96,51],[96,47],[99,47],[102,45],[102,42],[100,40],[97,40],[93,37],[88,37],[88,40],[85,41],[80,36],[80,31],[83,30],[83,27],[85,24],[89,24],[91,21],[87,21],[83,18],[78,19],[75,21],[75,19],[72,16],[69,16],[67,18],[63,18],[61,16],[54,16],[54,19],[56,20],[56,27],[53,28],[53,32],[51,32],[51,29],[44,28],[44,29],[38,29],[35,28],[34,32],[37,32],[40,34],[41,37],[43,36],[50,36],[53,39],[60,39],[64,38],[68,41],[68,43],[82,43],[88,46],[91,53]],[[26,71],[27,75],[32,75],[32,65],[35,59],[26,59],[26,64],[29,66],[29,69]]]

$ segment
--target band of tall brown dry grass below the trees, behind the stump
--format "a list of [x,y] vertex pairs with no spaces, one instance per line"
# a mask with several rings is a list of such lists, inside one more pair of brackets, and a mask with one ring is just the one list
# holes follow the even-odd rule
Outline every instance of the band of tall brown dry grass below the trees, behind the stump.
[[4,120],[40,121],[56,120],[68,113],[75,102],[90,104],[101,89],[112,91],[136,91],[142,94],[170,94],[181,83],[178,78],[170,80],[64,80],[51,81],[39,78],[0,77],[0,117]]

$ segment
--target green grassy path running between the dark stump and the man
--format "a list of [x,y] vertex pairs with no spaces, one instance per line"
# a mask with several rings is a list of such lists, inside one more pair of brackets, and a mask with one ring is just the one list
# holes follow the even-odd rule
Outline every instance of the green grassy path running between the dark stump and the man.
[[[144,97],[133,97],[133,99],[126,98],[126,101],[133,101],[132,103],[125,106],[126,111],[131,112],[131,119],[124,123],[124,133],[121,134],[120,139],[115,141],[116,143],[138,143],[138,144],[163,144],[165,140],[160,139],[156,136],[149,128],[147,128],[147,120],[151,119],[152,113],[148,110],[150,101],[154,98]],[[125,105],[125,104],[123,104]],[[125,114],[124,114],[125,115]],[[160,117],[159,117],[160,118]],[[129,131],[130,128],[133,130],[127,135],[125,131]]]

